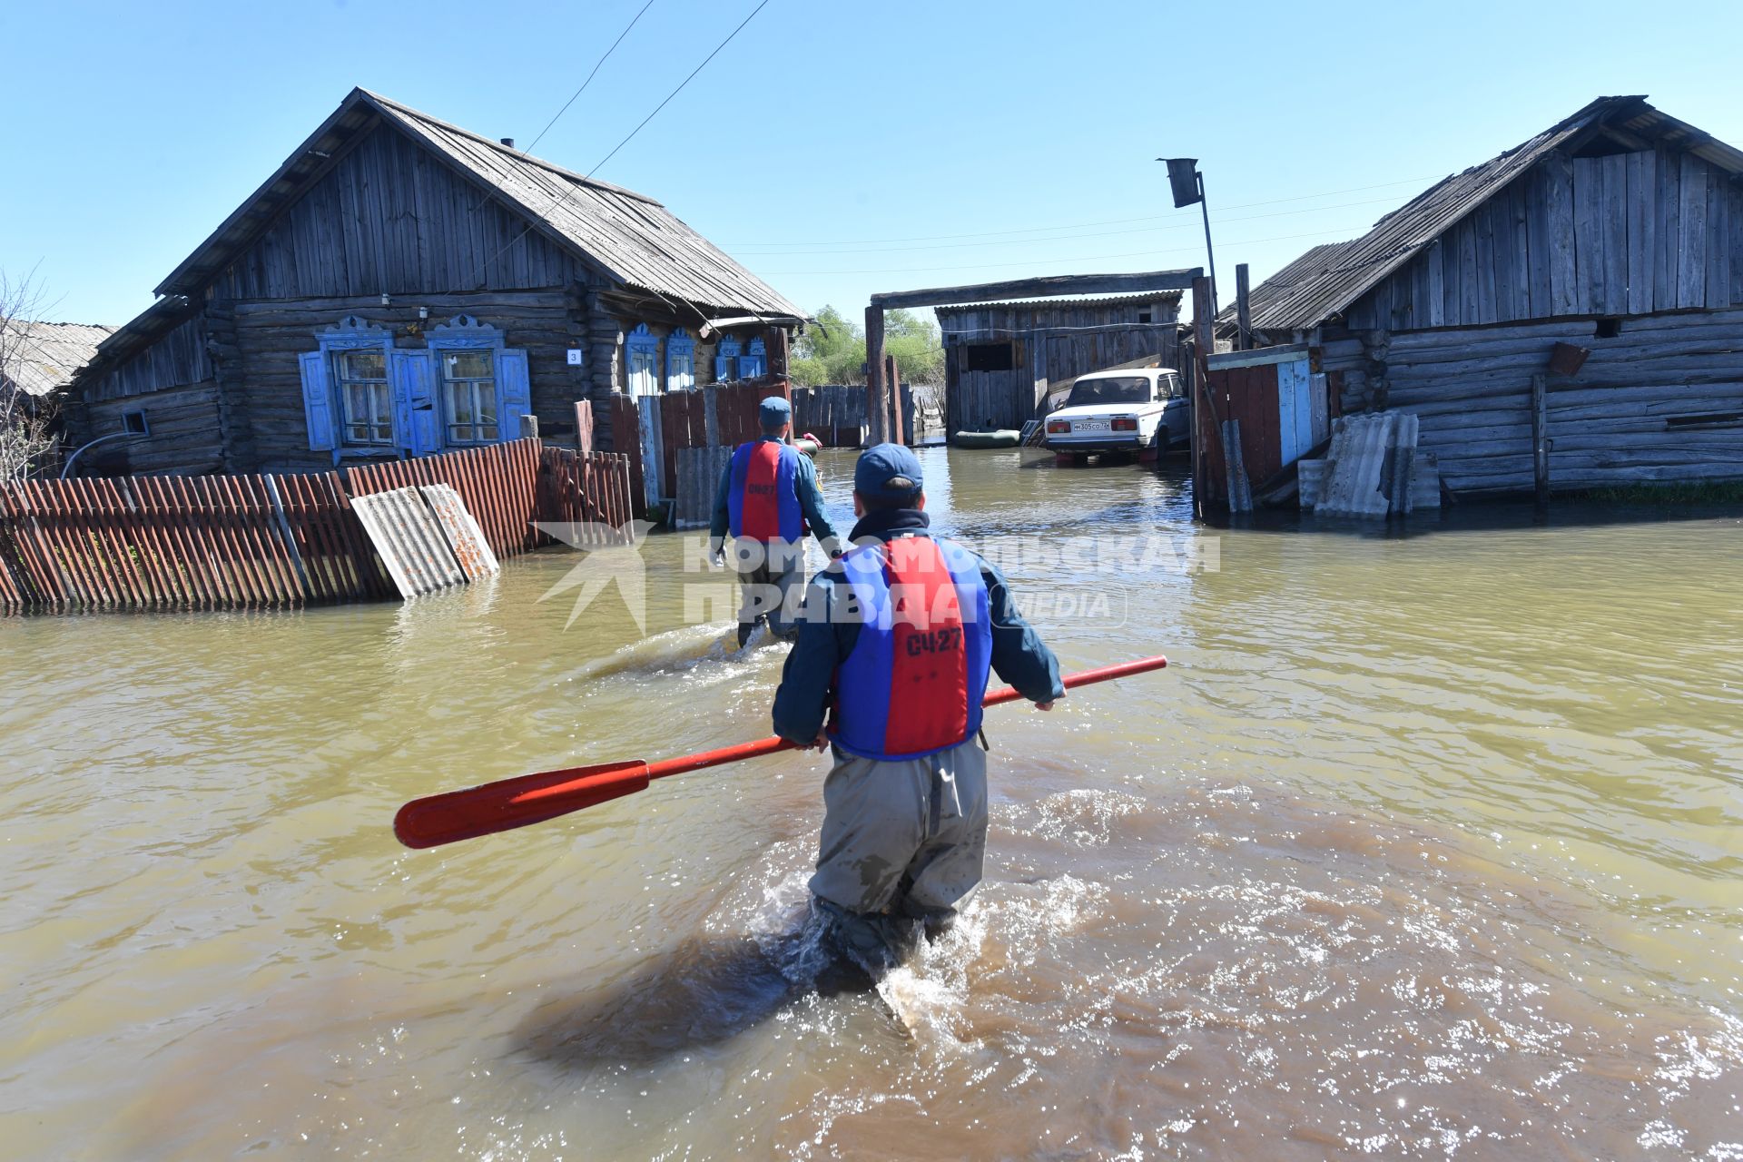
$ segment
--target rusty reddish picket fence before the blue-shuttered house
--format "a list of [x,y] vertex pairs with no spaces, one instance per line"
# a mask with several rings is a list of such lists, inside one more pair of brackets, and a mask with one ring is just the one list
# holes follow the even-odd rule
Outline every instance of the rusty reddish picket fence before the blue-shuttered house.
[[[523,439],[284,476],[131,476],[0,488],[0,613],[251,610],[397,596],[350,497],[451,484],[498,557],[535,521],[629,521],[629,462]],[[593,544],[612,538],[600,530]]]

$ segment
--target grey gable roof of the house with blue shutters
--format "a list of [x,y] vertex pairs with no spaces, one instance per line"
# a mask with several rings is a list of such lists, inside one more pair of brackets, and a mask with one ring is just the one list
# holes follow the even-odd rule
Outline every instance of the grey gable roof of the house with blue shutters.
[[624,286],[715,308],[704,312],[706,317],[804,317],[800,307],[654,199],[584,178],[366,89],[352,89],[284,166],[157,286],[157,293],[197,296],[281,209],[328,172],[333,157],[378,122],[427,146],[451,171],[525,216],[533,230]]

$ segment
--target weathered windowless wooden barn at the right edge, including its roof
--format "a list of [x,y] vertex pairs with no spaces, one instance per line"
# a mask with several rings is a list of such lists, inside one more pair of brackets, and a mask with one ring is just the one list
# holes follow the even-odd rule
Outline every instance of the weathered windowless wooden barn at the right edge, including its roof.
[[1312,247],[1251,328],[1306,347],[1333,416],[1415,413],[1455,495],[1743,477],[1740,176],[1743,152],[1602,98]]

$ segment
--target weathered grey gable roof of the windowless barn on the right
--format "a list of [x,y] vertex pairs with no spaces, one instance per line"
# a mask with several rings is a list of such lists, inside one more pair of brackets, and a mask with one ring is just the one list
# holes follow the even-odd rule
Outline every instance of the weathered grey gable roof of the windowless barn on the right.
[[[1478,206],[1529,171],[1546,153],[1590,129],[1612,129],[1687,150],[1733,174],[1743,174],[1743,152],[1645,103],[1645,98],[1598,98],[1530,141],[1482,166],[1445,178],[1380,218],[1349,242],[1316,246],[1271,275],[1248,296],[1253,328],[1288,331],[1316,328],[1347,310],[1387,275],[1462,221]],[[1264,307],[1260,307],[1264,293]],[[1232,312],[1218,314],[1218,329]]]

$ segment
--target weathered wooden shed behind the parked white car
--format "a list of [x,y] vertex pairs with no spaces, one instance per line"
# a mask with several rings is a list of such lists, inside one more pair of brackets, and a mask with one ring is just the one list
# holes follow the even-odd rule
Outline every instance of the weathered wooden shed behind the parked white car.
[[1159,359],[1175,366],[1180,293],[938,307],[948,432],[1016,429],[1053,385]]

